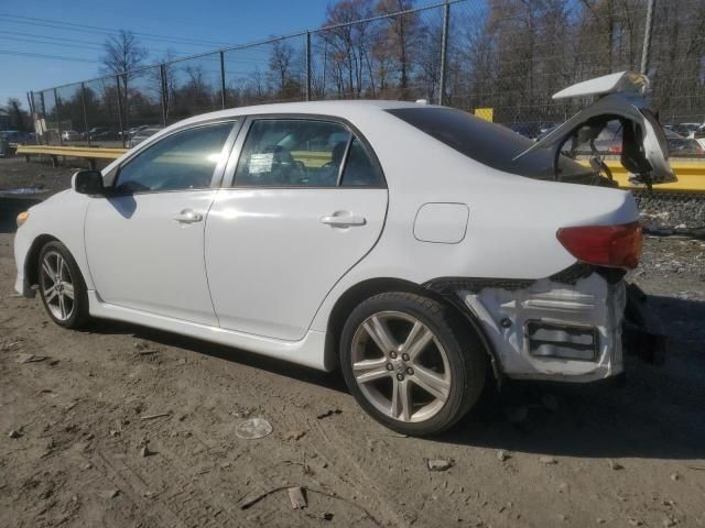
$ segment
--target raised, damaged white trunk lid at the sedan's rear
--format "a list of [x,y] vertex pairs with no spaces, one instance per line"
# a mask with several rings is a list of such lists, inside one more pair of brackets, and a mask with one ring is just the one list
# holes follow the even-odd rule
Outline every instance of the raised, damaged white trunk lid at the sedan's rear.
[[538,148],[557,151],[568,142],[590,141],[610,121],[619,121],[621,128],[620,162],[632,174],[636,184],[666,184],[676,182],[669,164],[669,143],[657,114],[642,96],[646,77],[622,72],[571,86],[553,96],[554,99],[598,99],[554,129],[541,141],[520,154]]

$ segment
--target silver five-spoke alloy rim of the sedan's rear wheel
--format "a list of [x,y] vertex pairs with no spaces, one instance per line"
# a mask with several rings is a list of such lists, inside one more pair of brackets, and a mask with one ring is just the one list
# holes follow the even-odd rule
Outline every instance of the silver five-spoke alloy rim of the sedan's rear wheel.
[[403,422],[429,420],[448,399],[451,366],[433,331],[401,311],[368,317],[352,338],[352,374],[362,395]]

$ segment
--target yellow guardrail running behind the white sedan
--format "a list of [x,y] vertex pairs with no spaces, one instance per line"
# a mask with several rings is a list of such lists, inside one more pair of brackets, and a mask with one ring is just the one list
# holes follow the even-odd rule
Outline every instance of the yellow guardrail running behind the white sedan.
[[[86,157],[89,160],[117,160],[124,154],[128,148],[102,148],[90,146],[52,146],[52,145],[18,145],[17,154],[29,156],[30,154],[44,154],[47,156]],[[311,166],[321,166],[330,160],[327,153],[296,152],[292,153],[297,157],[306,157]],[[304,155],[305,154],[305,155]],[[585,160],[581,164],[589,166]],[[612,177],[622,189],[639,190],[643,186],[632,185],[629,182],[627,169],[619,161],[610,160],[605,162],[612,173]],[[659,193],[703,193],[705,194],[705,161],[672,160],[671,167],[679,178],[672,184],[655,185],[653,189]]]

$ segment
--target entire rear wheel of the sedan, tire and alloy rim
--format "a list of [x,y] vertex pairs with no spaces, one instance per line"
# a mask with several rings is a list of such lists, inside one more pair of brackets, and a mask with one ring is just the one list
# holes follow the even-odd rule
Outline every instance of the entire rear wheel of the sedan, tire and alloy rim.
[[348,388],[376,420],[398,432],[441,432],[477,402],[486,358],[448,307],[406,293],[361,302],[340,339]]

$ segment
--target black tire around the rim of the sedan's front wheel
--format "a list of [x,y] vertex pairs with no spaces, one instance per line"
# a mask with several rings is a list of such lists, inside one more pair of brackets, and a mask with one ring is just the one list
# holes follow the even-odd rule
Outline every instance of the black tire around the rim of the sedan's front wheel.
[[[50,274],[44,266],[45,260],[48,257],[50,261],[53,261],[56,255],[61,255],[65,266],[62,266],[62,280],[69,279],[68,282],[73,286],[73,301],[70,302],[70,307],[66,307],[66,317],[62,318],[56,314],[56,305],[54,305],[53,298],[47,299],[46,289],[47,286],[54,280],[50,279]],[[70,252],[66,249],[64,244],[58,241],[52,241],[44,244],[42,251],[40,251],[40,256],[37,261],[37,282],[40,296],[42,297],[42,304],[44,305],[44,309],[48,317],[52,320],[64,328],[80,328],[89,320],[88,316],[88,293],[86,288],[86,283],[84,280],[83,275],[80,274],[80,270],[78,268],[78,264],[72,256]],[[65,288],[65,283],[62,285],[62,288]],[[67,295],[67,294],[66,294]],[[51,297],[51,294],[50,294]],[[66,301],[65,305],[68,305]]]

